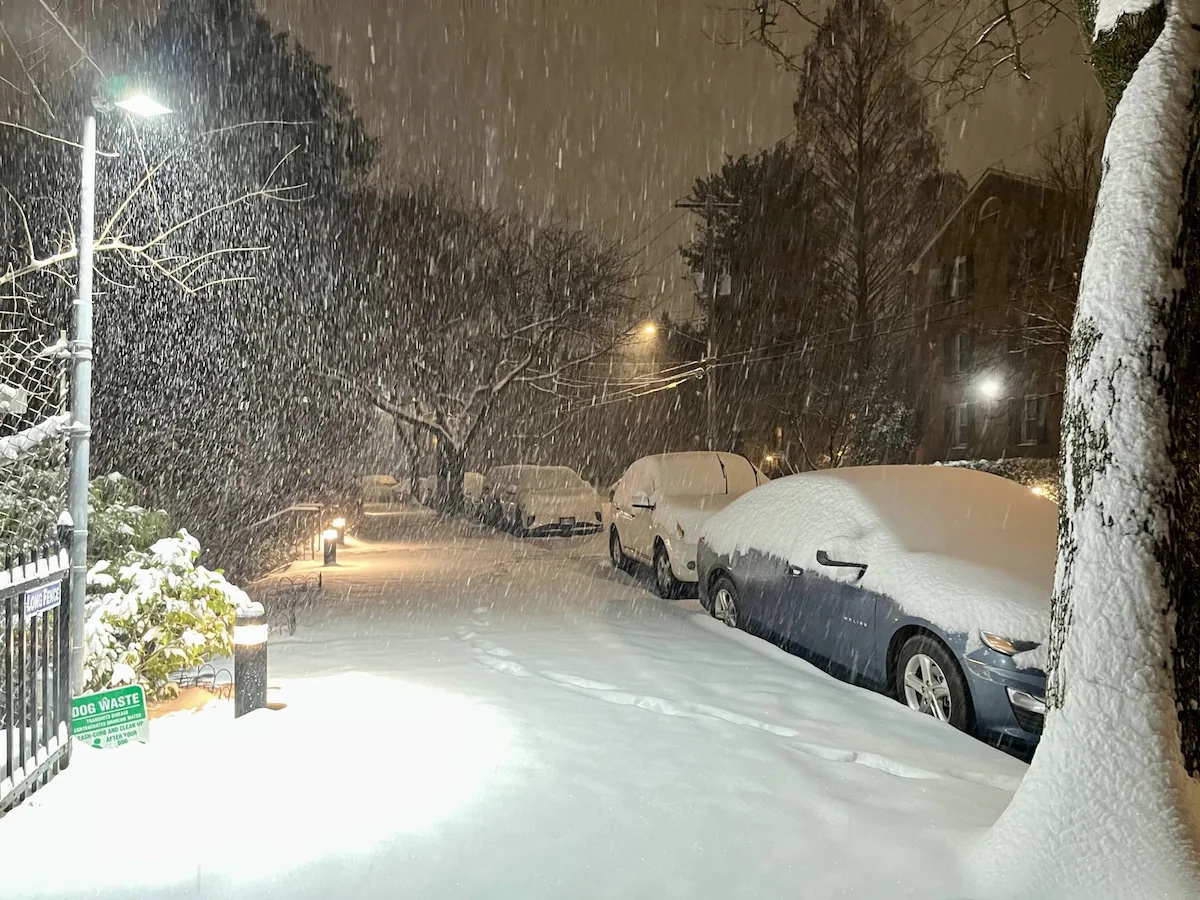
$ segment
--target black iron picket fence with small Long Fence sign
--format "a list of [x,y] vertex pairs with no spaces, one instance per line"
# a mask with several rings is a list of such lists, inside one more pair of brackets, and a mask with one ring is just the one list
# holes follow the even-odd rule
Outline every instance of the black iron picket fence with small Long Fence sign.
[[71,658],[66,550],[10,556],[0,571],[0,816],[71,758]]

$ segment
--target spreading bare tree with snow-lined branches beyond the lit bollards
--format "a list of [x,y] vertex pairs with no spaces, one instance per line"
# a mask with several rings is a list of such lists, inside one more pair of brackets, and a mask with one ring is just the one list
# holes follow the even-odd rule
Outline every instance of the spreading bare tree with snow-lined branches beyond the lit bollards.
[[619,251],[560,226],[533,227],[461,204],[443,188],[371,204],[373,271],[349,365],[329,374],[396,421],[436,439],[438,502],[462,505],[467,451],[516,385],[552,391],[626,331],[628,270]]

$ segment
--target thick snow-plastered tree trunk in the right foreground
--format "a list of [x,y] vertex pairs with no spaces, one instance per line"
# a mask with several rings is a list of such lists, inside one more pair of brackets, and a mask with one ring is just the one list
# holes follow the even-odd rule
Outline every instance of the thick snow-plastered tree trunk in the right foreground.
[[1200,896],[1200,0],[1081,2],[1115,103],[1063,414],[1042,745],[974,898]]

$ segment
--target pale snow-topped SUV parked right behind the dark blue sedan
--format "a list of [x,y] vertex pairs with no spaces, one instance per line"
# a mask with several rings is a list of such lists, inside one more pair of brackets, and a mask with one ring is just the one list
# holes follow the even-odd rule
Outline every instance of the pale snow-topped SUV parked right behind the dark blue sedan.
[[767,484],[754,463],[710,450],[643,456],[620,476],[612,497],[608,556],[618,569],[650,565],[662,598],[696,581],[696,539],[714,512]]

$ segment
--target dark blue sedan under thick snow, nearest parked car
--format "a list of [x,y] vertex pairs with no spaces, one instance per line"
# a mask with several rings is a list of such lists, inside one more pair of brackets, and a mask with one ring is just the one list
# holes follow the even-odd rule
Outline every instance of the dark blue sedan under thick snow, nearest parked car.
[[1032,748],[1057,521],[1050,500],[970,469],[791,475],[709,520],[700,599],[846,680]]

